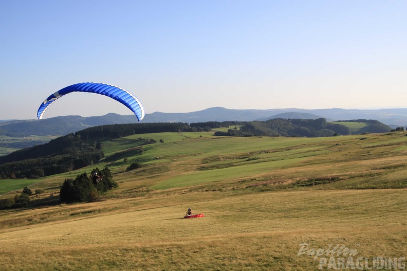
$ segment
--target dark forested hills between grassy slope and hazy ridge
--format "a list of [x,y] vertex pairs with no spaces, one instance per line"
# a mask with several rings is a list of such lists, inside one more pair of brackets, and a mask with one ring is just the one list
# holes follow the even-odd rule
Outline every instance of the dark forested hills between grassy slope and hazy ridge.
[[[55,138],[48,143],[36,145],[0,156],[0,178],[40,178],[85,167],[104,156],[102,141],[144,133],[162,132],[212,132],[215,136],[289,136],[326,137],[352,133],[383,133],[391,128],[376,120],[358,120],[329,123],[319,119],[270,119],[267,121],[203,123],[130,123],[91,127],[75,134]],[[342,124],[343,123],[343,124]],[[239,129],[237,129],[239,125]],[[227,130],[227,131],[225,131]],[[161,139],[159,141],[162,141]],[[133,147],[154,143],[149,138],[139,138]],[[139,150],[138,150],[139,151]],[[137,152],[138,153],[138,152]]]

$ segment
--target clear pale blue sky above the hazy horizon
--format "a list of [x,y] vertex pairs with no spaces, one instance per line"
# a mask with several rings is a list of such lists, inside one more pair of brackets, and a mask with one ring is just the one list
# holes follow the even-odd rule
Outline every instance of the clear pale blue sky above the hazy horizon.
[[[0,0],[0,119],[80,82],[146,113],[407,107],[407,1]],[[44,118],[130,115],[70,94]]]

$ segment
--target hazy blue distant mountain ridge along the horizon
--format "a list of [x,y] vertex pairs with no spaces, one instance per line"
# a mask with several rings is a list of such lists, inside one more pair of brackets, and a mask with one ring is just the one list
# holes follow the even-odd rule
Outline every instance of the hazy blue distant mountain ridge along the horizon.
[[[307,115],[311,114],[311,115]],[[206,121],[253,121],[273,118],[325,118],[328,121],[373,119],[390,127],[407,125],[407,109],[379,109],[379,110],[347,110],[347,109],[225,109],[212,107],[190,113],[162,113],[146,114],[142,123],[154,122],[206,122]],[[135,115],[118,115],[109,113],[104,116],[81,117],[62,116],[42,120],[13,120],[0,121],[0,135],[22,137],[29,135],[66,135],[106,124],[137,123]]]

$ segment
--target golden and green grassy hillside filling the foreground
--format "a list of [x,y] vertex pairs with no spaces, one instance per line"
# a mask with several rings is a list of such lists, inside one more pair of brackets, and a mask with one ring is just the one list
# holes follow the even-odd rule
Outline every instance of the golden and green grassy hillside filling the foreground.
[[[164,143],[134,152],[139,137]],[[352,269],[341,262],[346,249],[353,269],[395,269],[388,258],[397,269],[405,263],[403,132],[162,133],[103,145],[116,160],[43,178],[30,186],[45,193],[32,196],[29,208],[0,211],[1,270],[317,270],[320,261],[323,269]],[[125,172],[124,157],[143,167]],[[119,188],[97,202],[60,204],[64,179],[96,166],[108,166]],[[205,217],[182,219],[188,207]],[[334,254],[337,245],[344,249],[335,251],[335,266],[331,255],[311,255]]]

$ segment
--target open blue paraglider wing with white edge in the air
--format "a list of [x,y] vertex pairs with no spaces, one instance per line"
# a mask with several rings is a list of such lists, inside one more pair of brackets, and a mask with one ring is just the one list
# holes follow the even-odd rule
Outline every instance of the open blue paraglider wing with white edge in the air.
[[51,105],[51,103],[71,92],[89,92],[108,96],[127,106],[127,108],[133,111],[133,113],[136,115],[138,121],[144,118],[145,113],[143,105],[136,98],[136,96],[125,89],[102,83],[79,83],[62,88],[60,91],[55,92],[45,99],[38,109],[38,119],[42,119],[44,112],[47,110],[48,106]]

